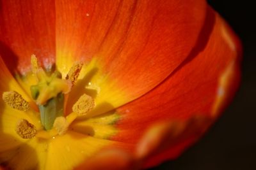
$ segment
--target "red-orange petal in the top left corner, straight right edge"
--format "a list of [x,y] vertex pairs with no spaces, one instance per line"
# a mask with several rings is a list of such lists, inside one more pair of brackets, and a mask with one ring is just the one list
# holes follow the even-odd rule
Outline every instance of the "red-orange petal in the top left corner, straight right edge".
[[55,57],[55,10],[52,1],[1,1],[0,55],[14,71],[28,71],[35,54],[49,67]]

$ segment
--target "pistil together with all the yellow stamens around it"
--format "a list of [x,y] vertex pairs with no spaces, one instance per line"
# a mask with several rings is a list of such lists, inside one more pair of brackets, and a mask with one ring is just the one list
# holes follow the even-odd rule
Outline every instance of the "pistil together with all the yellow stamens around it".
[[[68,92],[76,84],[79,73],[83,67],[80,62],[75,63],[65,79],[59,71],[45,72],[39,66],[35,55],[31,56],[31,70],[35,74],[37,83],[30,87],[31,97],[35,100],[40,112],[42,129],[36,129],[28,120],[17,122],[16,132],[21,138],[49,138],[56,134],[63,135],[68,126],[79,116],[84,115],[95,107],[92,97],[83,94],[72,107],[72,113],[65,117],[65,101]],[[15,92],[4,92],[3,101],[13,109],[28,112],[29,103]],[[33,111],[35,113],[35,111]]]

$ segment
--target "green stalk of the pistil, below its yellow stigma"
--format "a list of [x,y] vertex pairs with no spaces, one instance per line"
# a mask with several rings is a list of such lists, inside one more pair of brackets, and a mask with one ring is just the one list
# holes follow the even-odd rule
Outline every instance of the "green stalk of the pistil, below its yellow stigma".
[[62,117],[64,106],[64,95],[59,93],[58,96],[53,97],[47,101],[44,105],[39,105],[41,124],[44,126],[45,130],[52,129],[52,125],[57,117]]

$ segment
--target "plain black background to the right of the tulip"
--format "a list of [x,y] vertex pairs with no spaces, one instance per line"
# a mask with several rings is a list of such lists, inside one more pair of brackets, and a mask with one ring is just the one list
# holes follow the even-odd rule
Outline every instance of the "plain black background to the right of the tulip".
[[241,87],[220,120],[179,159],[151,170],[256,169],[256,6],[254,1],[209,0],[243,43]]

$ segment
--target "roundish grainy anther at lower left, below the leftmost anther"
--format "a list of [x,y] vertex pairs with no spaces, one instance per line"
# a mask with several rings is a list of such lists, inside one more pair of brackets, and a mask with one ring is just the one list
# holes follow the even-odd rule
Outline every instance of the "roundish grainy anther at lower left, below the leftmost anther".
[[28,120],[21,119],[17,122],[15,131],[23,139],[31,139],[36,136],[36,127],[30,124]]

